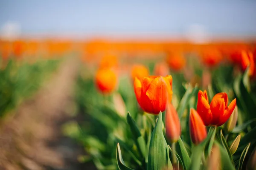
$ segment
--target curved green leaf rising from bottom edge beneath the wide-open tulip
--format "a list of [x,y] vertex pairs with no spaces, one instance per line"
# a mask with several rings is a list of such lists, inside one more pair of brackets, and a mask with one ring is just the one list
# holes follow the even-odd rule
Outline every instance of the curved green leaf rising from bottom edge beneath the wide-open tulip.
[[[213,130],[212,130],[213,129]],[[209,130],[209,133],[207,135],[207,138],[204,139],[203,142],[198,144],[192,149],[192,155],[191,155],[191,165],[189,170],[199,170],[201,165],[201,159],[204,153],[204,148],[206,144],[209,142],[209,140],[212,138],[212,136],[215,136],[216,133],[216,127],[212,127]]]

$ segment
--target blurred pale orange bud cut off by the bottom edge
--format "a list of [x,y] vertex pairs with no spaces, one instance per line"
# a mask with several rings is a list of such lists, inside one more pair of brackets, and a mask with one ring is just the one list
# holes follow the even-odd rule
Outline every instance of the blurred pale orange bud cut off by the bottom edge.
[[[220,149],[217,145],[212,147],[212,153],[208,158],[208,170],[220,170]],[[217,168],[218,167],[218,168]]]

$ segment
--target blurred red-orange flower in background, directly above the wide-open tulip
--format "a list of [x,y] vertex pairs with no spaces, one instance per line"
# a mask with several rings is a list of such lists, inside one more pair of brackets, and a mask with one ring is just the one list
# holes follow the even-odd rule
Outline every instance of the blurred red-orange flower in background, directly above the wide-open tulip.
[[211,48],[211,49],[205,49],[202,52],[202,59],[204,64],[212,67],[219,64],[223,59],[223,56],[220,51],[218,51],[217,49]]

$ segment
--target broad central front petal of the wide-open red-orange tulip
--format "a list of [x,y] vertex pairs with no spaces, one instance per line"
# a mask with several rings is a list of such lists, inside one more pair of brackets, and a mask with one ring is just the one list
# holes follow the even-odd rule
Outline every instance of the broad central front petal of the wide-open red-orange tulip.
[[215,98],[213,97],[210,104],[212,111],[212,122],[211,125],[217,125],[220,117],[224,114],[225,111],[225,100],[224,98]]

